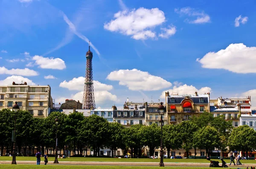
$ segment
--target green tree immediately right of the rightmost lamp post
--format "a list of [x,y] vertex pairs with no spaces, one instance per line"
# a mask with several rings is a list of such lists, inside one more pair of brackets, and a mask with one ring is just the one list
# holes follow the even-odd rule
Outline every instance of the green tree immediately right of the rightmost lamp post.
[[180,133],[177,130],[177,125],[163,126],[163,145],[167,149],[167,158],[170,158],[171,149],[179,149],[182,146]]

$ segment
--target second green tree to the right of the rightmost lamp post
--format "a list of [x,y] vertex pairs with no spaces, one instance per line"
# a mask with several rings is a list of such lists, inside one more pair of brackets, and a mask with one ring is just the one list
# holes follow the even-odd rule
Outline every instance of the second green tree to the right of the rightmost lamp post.
[[183,142],[182,147],[186,150],[186,156],[189,156],[189,150],[193,147],[193,135],[198,126],[193,121],[183,121],[177,125],[180,138]]

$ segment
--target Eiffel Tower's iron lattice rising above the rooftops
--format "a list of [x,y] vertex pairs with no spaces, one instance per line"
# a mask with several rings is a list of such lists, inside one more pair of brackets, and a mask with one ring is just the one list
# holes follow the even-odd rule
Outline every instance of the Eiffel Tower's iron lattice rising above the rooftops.
[[94,91],[93,91],[93,65],[92,65],[93,53],[86,52],[86,70],[84,79],[84,96],[83,96],[83,109],[95,109]]

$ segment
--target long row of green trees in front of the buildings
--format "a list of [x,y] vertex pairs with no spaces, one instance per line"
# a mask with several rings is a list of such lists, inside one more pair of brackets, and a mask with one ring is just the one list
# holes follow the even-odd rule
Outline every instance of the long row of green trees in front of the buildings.
[[[19,155],[26,149],[34,150],[55,148],[56,124],[58,117],[58,147],[83,155],[87,150],[93,150],[95,156],[100,156],[99,150],[108,147],[115,155],[115,150],[121,148],[124,154],[131,150],[131,156],[140,158],[143,147],[147,146],[150,155],[160,146],[160,127],[157,124],[145,126],[141,124],[125,128],[119,123],[109,123],[105,118],[91,115],[87,118],[82,113],[66,115],[52,112],[47,118],[34,118],[30,113],[20,110],[15,113],[9,109],[0,110],[0,147],[12,147],[12,130],[14,130],[15,116],[17,118],[16,144]],[[230,150],[248,152],[256,149],[256,132],[249,126],[232,127],[231,121],[221,117],[212,117],[204,112],[199,117],[192,117],[177,125],[163,126],[163,145],[168,158],[171,149],[206,149],[207,156],[215,148],[222,152]],[[32,151],[34,152],[34,151]],[[26,154],[25,154],[26,155]]]

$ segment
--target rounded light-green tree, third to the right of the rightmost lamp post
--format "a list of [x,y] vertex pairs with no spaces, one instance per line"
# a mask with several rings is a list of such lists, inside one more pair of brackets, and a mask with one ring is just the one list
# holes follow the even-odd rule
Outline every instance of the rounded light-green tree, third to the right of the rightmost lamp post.
[[211,126],[203,127],[197,130],[193,135],[195,144],[201,148],[206,149],[207,156],[220,145],[220,135],[218,131]]

